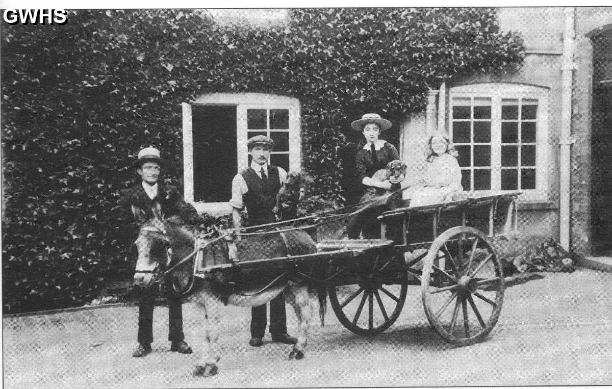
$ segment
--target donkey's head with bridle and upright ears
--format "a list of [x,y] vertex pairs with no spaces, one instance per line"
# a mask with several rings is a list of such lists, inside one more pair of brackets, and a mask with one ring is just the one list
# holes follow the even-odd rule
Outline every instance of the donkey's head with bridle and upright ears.
[[138,249],[134,284],[141,287],[159,281],[159,276],[168,267],[172,258],[170,239],[166,235],[159,204],[151,210],[152,217],[149,217],[144,210],[132,206],[136,223],[140,225],[140,233],[134,242]]

